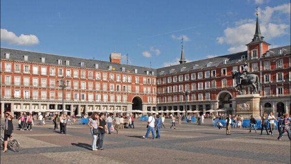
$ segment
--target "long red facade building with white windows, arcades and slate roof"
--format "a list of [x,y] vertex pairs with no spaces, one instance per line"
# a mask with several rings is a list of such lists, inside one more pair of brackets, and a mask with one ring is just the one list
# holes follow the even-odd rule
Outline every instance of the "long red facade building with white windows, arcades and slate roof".
[[[243,69],[259,76],[260,109],[278,115],[290,112],[291,46],[269,49],[257,19],[247,51],[159,69],[120,64],[121,54],[110,62],[65,57],[9,48],[0,49],[1,113],[6,110],[62,109],[63,91],[57,81],[64,76],[68,114],[94,110],[199,110],[235,111],[231,71]],[[185,99],[183,91],[189,91]],[[250,87],[243,88],[249,94]]]

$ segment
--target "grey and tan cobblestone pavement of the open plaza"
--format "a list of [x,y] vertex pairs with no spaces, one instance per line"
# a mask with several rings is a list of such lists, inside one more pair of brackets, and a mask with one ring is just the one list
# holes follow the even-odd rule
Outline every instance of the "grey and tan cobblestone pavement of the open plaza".
[[[3,120],[1,120],[3,122]],[[290,164],[291,142],[287,134],[282,141],[275,135],[248,133],[248,129],[218,130],[205,124],[177,124],[161,129],[161,139],[142,139],[146,121],[135,121],[134,129],[122,129],[120,134],[106,134],[104,150],[91,150],[92,135],[87,126],[67,126],[67,135],[53,130],[53,124],[33,126],[32,131],[19,131],[14,121],[13,138],[20,142],[19,152],[1,151],[1,164]],[[151,137],[151,134],[150,134]]]

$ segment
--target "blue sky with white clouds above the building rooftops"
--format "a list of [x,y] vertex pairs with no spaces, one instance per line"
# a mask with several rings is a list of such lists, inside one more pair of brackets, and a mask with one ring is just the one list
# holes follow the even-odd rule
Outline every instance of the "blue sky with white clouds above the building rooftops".
[[290,0],[1,0],[1,47],[160,68],[246,50],[255,32],[290,45]]

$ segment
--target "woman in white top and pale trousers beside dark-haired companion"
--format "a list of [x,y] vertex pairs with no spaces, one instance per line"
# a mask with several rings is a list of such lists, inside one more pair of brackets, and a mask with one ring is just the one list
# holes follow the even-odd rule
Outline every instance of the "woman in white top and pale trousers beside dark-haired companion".
[[93,112],[91,118],[88,121],[88,126],[90,127],[90,132],[92,134],[93,140],[92,140],[92,150],[96,151],[97,150],[97,135],[98,135],[98,113]]

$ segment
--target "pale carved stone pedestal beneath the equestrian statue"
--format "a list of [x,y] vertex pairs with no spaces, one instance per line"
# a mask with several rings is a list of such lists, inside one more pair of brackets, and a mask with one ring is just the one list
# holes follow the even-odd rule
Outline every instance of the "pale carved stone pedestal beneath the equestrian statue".
[[243,119],[250,119],[253,115],[255,119],[259,119],[259,94],[246,94],[236,96],[236,115],[240,115]]

